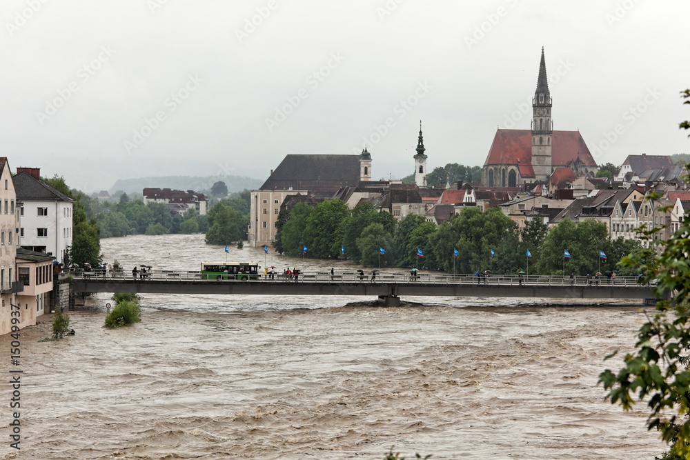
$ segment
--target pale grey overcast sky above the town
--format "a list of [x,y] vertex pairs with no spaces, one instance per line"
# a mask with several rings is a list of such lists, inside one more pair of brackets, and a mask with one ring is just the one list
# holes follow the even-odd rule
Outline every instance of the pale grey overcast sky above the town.
[[3,0],[1,155],[93,191],[265,179],[366,142],[395,179],[421,119],[429,168],[482,165],[497,126],[530,128],[542,46],[555,129],[598,163],[690,152],[689,17],[687,0]]

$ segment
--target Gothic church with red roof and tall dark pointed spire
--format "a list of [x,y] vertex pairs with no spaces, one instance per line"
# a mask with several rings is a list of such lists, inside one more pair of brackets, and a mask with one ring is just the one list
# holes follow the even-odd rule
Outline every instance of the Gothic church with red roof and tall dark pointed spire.
[[542,48],[530,129],[496,131],[482,168],[482,185],[518,187],[524,183],[548,183],[551,174],[560,168],[569,168],[578,177],[594,176],[598,166],[580,131],[553,130],[552,102]]

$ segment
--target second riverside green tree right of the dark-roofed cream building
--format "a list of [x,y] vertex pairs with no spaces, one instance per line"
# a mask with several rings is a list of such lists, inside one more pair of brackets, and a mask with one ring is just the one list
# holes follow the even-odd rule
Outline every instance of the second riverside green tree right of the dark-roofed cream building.
[[304,243],[308,246],[311,257],[339,257],[342,244],[340,225],[349,214],[346,203],[339,199],[326,200],[316,206],[304,229]]

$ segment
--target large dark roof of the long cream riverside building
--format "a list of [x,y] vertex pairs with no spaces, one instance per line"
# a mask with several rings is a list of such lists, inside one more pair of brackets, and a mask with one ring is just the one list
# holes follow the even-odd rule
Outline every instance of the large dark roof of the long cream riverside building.
[[308,190],[332,196],[359,182],[359,155],[289,154],[259,190]]

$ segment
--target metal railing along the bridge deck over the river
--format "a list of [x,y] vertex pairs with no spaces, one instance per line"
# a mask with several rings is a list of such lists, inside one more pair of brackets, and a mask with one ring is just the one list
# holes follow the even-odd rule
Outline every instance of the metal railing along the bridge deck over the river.
[[[259,274],[259,279],[249,281],[257,282],[312,282],[312,283],[431,283],[431,284],[475,284],[493,286],[639,286],[637,277],[569,277],[547,276],[527,274],[444,274],[444,273],[417,273],[417,272],[308,272],[300,273],[295,277],[288,277],[282,273],[273,275]],[[122,272],[112,270],[70,270],[65,276],[74,279],[112,279],[131,281],[201,281],[205,280],[201,272],[179,270],[151,270],[146,274],[137,272]],[[222,280],[219,282],[246,281]]]

